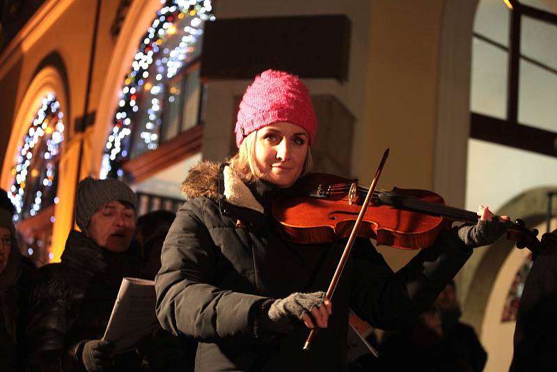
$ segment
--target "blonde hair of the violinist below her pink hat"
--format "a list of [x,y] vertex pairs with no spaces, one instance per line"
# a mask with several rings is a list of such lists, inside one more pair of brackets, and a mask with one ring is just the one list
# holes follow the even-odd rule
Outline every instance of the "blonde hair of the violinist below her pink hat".
[[[267,173],[260,171],[256,163],[256,134],[257,130],[254,130],[248,134],[238,152],[233,157],[228,159],[230,164],[230,169],[235,173],[237,178],[248,183],[256,182],[261,178],[264,178]],[[305,176],[311,171],[313,166],[313,159],[311,157],[311,148],[308,146],[308,152],[306,153],[306,160],[304,162],[304,167],[301,169],[300,177]]]

